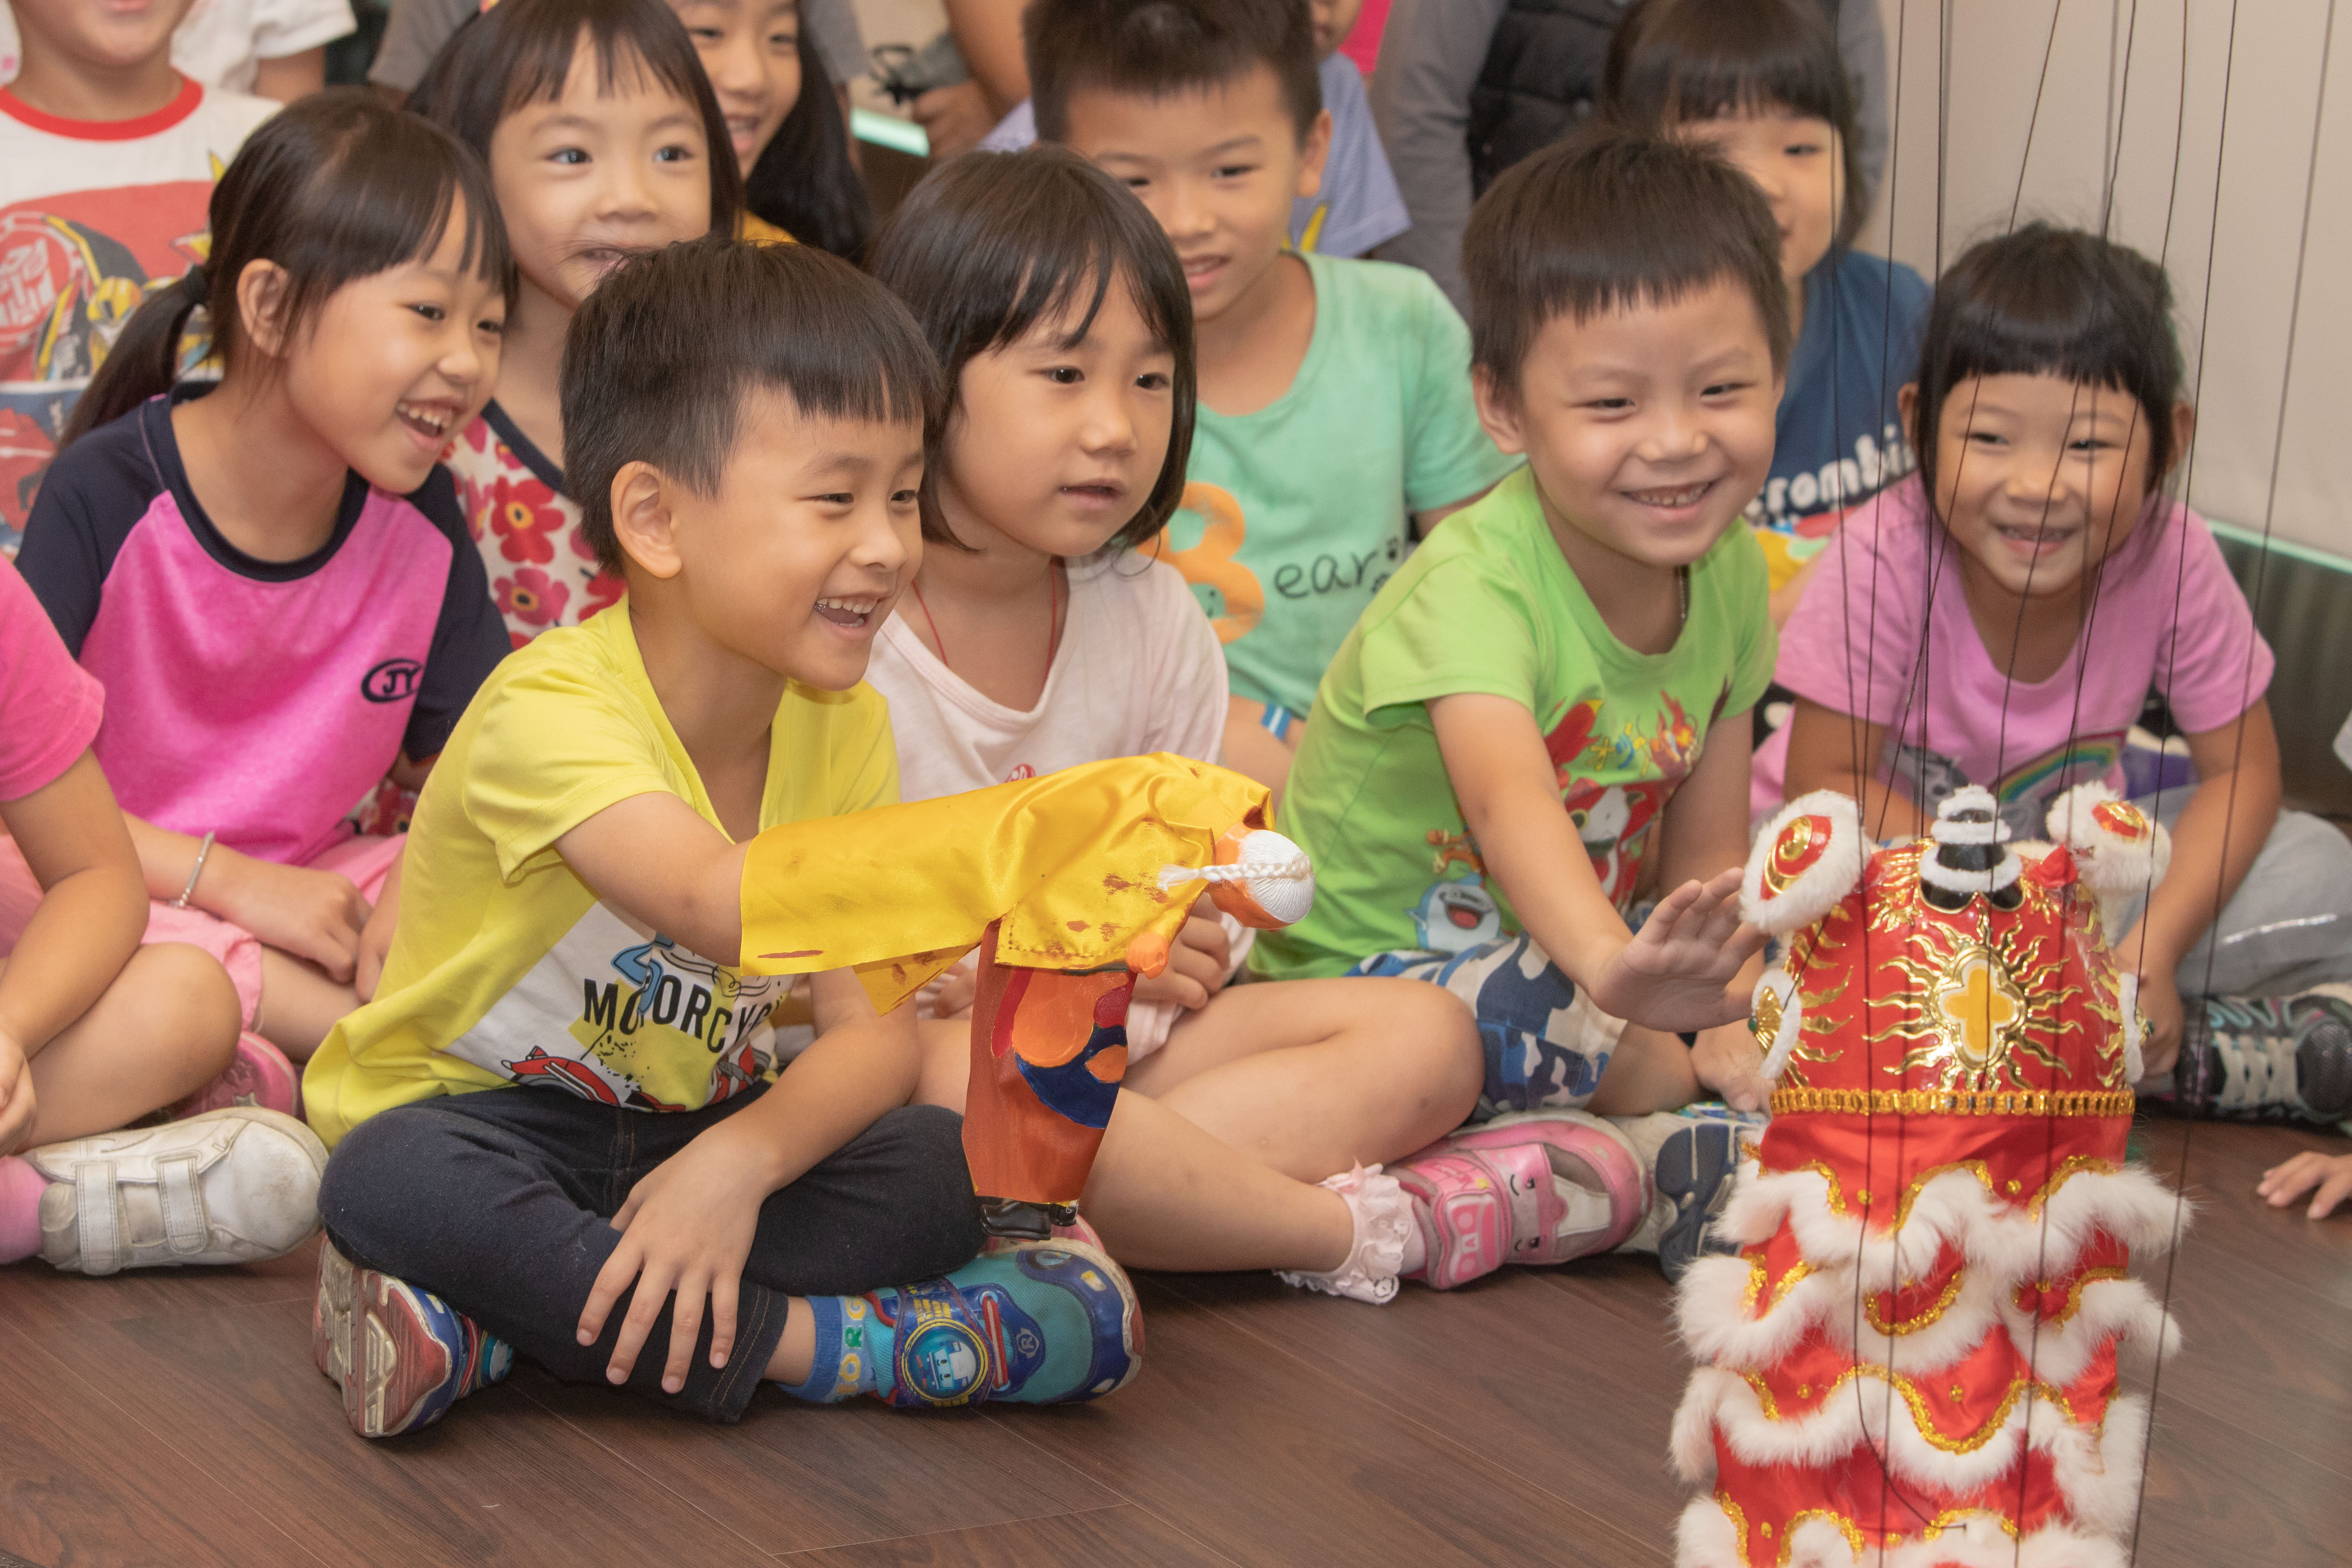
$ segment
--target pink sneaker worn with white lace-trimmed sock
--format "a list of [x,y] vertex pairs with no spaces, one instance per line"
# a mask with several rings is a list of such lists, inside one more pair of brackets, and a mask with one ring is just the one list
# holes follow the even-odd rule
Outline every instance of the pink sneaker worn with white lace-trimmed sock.
[[1649,1206],[1632,1145],[1585,1112],[1519,1112],[1432,1143],[1392,1166],[1414,1194],[1432,1291],[1505,1262],[1604,1253]]

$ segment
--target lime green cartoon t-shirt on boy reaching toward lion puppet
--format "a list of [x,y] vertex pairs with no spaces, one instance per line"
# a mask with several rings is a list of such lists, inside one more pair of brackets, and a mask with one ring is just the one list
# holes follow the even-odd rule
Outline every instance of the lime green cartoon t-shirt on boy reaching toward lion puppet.
[[1428,701],[1458,691],[1536,715],[1559,804],[1623,910],[1658,813],[1708,726],[1764,693],[1773,644],[1764,552],[1733,527],[1691,567],[1675,646],[1635,654],[1569,571],[1534,480],[1515,473],[1414,552],[1331,661],[1282,795],[1282,832],[1315,863],[1315,910],[1263,931],[1251,966],[1334,976],[1374,952],[1461,952],[1517,929],[1430,726]]

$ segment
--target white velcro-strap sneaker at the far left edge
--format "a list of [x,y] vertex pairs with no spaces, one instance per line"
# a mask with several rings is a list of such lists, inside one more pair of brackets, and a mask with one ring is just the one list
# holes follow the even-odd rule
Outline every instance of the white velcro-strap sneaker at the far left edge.
[[40,1255],[68,1274],[280,1258],[318,1232],[327,1145],[275,1110],[233,1105],[186,1121],[26,1150]]

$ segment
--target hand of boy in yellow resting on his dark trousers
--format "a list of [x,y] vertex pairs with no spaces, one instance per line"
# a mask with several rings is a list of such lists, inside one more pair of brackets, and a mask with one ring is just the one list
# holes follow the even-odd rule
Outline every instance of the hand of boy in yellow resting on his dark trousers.
[[621,1213],[612,1218],[621,1246],[612,1248],[597,1272],[579,1324],[579,1342],[595,1345],[612,1305],[628,1291],[628,1281],[637,1281],[604,1368],[612,1382],[628,1382],[670,1291],[677,1293],[677,1309],[670,1314],[670,1359],[661,1368],[661,1389],[677,1394],[687,1387],[706,1300],[713,1316],[710,1366],[727,1366],[743,1260],[750,1258],[760,1204],[771,1192],[753,1175],[762,1164],[757,1154],[739,1145],[741,1135],[727,1121],[713,1126],[630,1187]]

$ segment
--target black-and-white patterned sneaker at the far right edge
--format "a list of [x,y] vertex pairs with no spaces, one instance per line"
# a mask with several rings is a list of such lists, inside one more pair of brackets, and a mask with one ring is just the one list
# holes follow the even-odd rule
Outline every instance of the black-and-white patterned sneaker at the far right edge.
[[2227,1121],[2352,1117],[2352,985],[2192,999],[2171,1105]]

